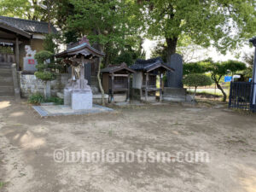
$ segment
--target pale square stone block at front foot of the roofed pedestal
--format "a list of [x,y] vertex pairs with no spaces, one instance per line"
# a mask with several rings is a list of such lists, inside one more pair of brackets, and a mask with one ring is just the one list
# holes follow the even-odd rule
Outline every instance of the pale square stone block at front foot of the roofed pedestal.
[[92,108],[91,91],[73,91],[71,94],[71,108],[73,110],[82,110]]

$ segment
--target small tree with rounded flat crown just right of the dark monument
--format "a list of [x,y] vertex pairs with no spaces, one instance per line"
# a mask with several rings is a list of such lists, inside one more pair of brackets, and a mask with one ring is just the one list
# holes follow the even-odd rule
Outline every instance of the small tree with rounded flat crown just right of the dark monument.
[[196,89],[199,86],[207,86],[212,84],[212,80],[206,74],[201,73],[191,73],[183,78],[183,84],[189,87],[195,87],[195,92],[193,96],[193,101],[195,101]]

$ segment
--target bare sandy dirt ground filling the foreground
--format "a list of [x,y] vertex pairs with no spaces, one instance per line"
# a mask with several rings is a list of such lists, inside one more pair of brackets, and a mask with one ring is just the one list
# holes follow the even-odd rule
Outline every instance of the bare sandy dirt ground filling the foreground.
[[[256,115],[221,106],[115,108],[41,119],[0,100],[0,191],[256,191]],[[209,162],[55,162],[68,151],[205,151]]]

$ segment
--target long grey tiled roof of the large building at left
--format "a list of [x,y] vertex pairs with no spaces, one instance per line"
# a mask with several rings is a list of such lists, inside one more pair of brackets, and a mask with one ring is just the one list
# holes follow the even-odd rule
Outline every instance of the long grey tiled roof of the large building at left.
[[[17,19],[13,17],[0,16],[0,22],[1,21],[4,22],[5,24],[8,24],[9,26],[13,26],[25,32],[43,33],[43,34],[48,33],[47,22],[37,21],[37,20],[23,20],[23,19]],[[57,30],[52,25],[51,25],[51,31],[54,33],[57,33]]]

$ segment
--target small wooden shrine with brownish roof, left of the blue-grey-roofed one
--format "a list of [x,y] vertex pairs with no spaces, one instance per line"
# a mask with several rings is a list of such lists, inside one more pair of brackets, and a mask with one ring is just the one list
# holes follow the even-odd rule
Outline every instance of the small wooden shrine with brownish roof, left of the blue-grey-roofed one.
[[125,63],[119,66],[109,66],[102,69],[102,86],[106,93],[108,93],[108,102],[113,101],[115,93],[126,94],[126,102],[130,97],[130,76],[135,73],[131,68],[127,67]]

